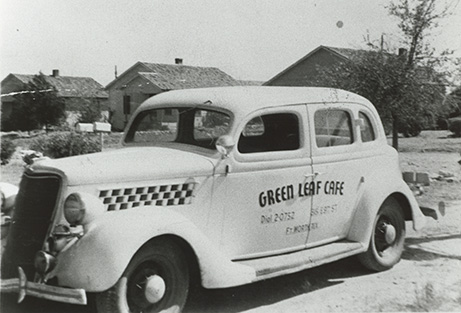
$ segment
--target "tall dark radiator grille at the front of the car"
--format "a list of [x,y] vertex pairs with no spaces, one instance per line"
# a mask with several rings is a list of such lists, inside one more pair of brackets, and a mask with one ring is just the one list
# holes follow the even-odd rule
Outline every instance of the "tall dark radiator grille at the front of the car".
[[34,257],[46,239],[60,186],[55,175],[23,175],[2,256],[2,278],[17,277],[18,266],[28,279],[34,278]]

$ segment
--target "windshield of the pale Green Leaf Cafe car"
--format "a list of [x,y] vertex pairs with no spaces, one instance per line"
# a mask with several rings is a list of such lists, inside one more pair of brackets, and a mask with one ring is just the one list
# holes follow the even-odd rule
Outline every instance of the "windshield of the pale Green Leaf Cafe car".
[[179,142],[215,149],[216,140],[227,134],[229,115],[197,108],[164,108],[141,112],[131,125],[126,143]]

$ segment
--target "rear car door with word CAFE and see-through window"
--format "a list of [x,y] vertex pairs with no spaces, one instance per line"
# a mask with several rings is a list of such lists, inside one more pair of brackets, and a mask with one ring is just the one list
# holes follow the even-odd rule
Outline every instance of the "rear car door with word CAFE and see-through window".
[[365,173],[373,166],[359,141],[357,105],[309,105],[312,163],[319,186],[313,197],[308,246],[346,237]]

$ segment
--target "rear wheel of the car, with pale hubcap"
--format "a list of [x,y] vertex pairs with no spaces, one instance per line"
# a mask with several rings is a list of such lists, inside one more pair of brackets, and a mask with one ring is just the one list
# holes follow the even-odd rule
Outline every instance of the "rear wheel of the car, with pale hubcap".
[[358,256],[359,261],[374,271],[392,268],[403,252],[405,219],[400,204],[387,199],[378,211],[368,250]]

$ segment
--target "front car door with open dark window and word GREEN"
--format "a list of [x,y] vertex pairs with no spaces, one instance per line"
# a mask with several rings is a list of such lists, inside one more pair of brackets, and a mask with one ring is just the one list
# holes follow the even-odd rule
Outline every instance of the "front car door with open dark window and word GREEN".
[[305,247],[311,209],[298,188],[312,174],[303,105],[265,109],[245,119],[218,166],[213,209],[224,211],[221,246],[233,259]]

